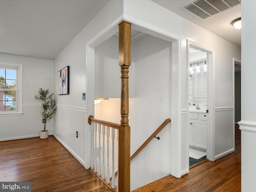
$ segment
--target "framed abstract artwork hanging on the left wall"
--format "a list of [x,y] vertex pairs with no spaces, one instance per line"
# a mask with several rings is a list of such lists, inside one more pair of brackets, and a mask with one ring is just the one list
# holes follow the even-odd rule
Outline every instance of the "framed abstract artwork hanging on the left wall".
[[69,66],[58,71],[58,95],[69,94]]

